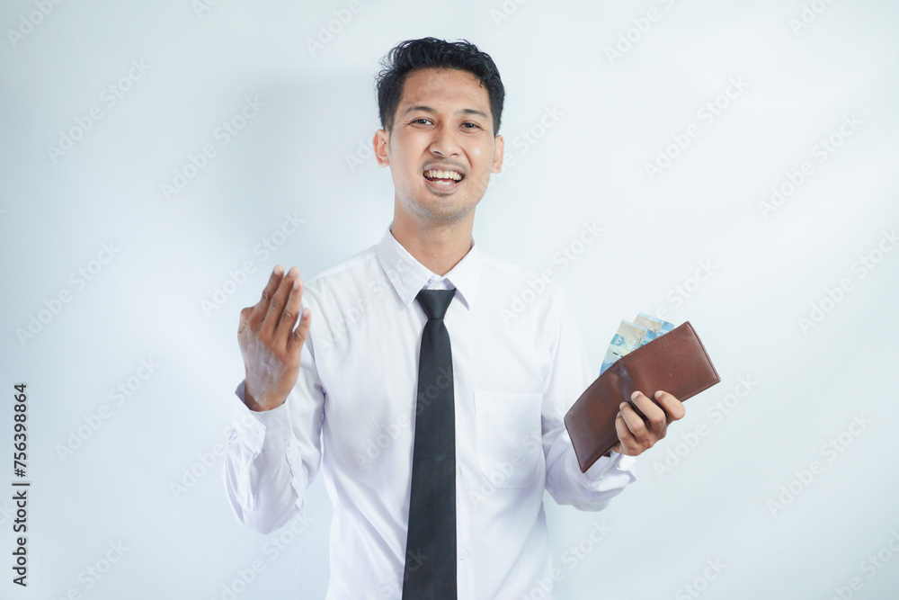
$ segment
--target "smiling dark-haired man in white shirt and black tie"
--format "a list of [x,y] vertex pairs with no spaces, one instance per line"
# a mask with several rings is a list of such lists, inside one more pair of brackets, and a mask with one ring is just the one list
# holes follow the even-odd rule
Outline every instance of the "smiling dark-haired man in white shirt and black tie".
[[467,42],[407,40],[387,56],[378,105],[394,219],[378,245],[305,285],[276,266],[241,311],[228,497],[268,533],[321,467],[330,599],[529,596],[551,570],[543,490],[600,510],[684,410],[664,392],[635,398],[647,422],[622,404],[614,452],[582,473],[562,420],[593,379],[573,311],[548,283],[503,319],[537,275],[472,237],[503,163],[493,60]]

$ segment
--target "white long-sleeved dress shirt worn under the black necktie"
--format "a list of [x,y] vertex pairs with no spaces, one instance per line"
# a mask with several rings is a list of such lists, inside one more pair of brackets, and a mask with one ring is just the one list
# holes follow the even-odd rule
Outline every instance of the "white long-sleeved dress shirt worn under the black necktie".
[[321,467],[334,503],[327,598],[400,598],[427,320],[415,296],[455,288],[444,322],[458,597],[529,597],[545,585],[544,488],[560,504],[600,510],[635,478],[633,457],[617,452],[586,473],[578,468],[563,417],[595,375],[564,291],[554,282],[534,291],[538,280],[485,255],[474,239],[440,277],[388,226],[380,243],[304,282],[312,325],[287,401],[254,412],[244,382],[237,386],[224,469],[237,519],[260,533],[286,524]]

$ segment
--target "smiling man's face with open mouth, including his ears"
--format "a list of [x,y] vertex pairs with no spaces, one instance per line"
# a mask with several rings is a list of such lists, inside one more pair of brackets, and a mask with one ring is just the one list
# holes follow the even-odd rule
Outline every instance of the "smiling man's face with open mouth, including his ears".
[[503,165],[493,123],[490,96],[473,74],[422,68],[406,76],[393,129],[374,139],[378,165],[390,166],[397,209],[438,221],[474,210]]

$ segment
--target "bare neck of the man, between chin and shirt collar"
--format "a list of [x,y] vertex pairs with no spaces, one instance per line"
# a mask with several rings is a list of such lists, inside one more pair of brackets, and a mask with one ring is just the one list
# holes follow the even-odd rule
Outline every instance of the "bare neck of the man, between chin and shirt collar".
[[420,222],[402,211],[394,214],[390,233],[419,263],[445,275],[468,254],[475,211],[458,220]]

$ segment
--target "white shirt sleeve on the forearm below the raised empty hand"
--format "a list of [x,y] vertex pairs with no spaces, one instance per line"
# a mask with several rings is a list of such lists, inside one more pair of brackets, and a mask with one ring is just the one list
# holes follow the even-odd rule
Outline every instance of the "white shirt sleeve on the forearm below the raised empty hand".
[[299,513],[321,465],[325,390],[312,347],[309,336],[297,383],[280,407],[250,410],[245,381],[235,390],[223,478],[237,520],[259,533],[271,533]]

